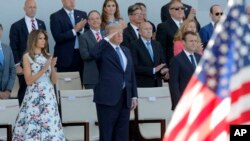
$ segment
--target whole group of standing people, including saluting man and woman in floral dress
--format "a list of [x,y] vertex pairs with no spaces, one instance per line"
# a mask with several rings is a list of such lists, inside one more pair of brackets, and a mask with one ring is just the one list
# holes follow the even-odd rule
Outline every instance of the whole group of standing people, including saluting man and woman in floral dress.
[[[155,26],[142,2],[128,7],[129,21],[121,17],[124,11],[116,0],[105,0],[102,9],[88,14],[75,9],[75,0],[61,3],[50,15],[53,54],[48,53],[51,37],[36,17],[35,0],[25,0],[24,17],[11,25],[9,46],[0,41],[0,99],[10,97],[16,75],[20,86],[14,140],[65,140],[53,84],[56,72],[72,71],[79,72],[86,89],[94,89],[100,140],[128,140],[136,88],[168,82],[174,110],[224,14],[220,5],[212,5],[211,22],[201,27],[196,9],[171,0],[162,6],[162,23]],[[250,6],[246,13],[250,23]],[[2,34],[0,24],[0,38]]]

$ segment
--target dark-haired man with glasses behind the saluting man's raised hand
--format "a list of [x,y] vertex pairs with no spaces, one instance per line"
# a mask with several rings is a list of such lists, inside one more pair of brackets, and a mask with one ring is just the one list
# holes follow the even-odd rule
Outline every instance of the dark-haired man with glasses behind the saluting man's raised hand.
[[123,31],[122,45],[130,48],[131,42],[139,38],[139,25],[144,21],[144,17],[141,7],[136,4],[128,7],[128,16],[130,22]]

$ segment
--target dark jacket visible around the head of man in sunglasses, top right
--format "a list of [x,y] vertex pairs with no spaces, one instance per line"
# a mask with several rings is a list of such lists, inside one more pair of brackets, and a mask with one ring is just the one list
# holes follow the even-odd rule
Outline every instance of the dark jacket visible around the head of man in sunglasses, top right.
[[[190,13],[190,10],[191,10],[192,6],[184,4],[184,3],[182,3],[182,4],[185,7],[184,13],[185,13],[185,17],[187,18],[189,13]],[[161,7],[161,21],[162,22],[165,22],[168,19],[171,19],[171,16],[169,14],[169,8],[168,8],[169,5],[170,5],[170,2]],[[200,23],[198,22],[196,17],[194,17],[194,19],[195,19],[196,24],[197,24],[197,31],[199,31],[201,29]]]

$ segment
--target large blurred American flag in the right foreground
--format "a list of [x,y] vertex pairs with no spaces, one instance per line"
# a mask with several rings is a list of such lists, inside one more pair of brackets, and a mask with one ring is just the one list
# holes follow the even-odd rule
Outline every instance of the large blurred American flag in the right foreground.
[[250,123],[250,31],[244,0],[229,0],[163,141],[226,141]]

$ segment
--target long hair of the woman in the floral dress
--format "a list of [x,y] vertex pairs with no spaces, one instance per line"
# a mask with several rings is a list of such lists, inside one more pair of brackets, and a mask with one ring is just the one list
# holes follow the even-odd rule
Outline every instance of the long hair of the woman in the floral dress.
[[37,47],[39,34],[43,34],[45,36],[45,42],[46,42],[44,48],[41,49],[41,53],[47,59],[50,57],[50,55],[47,53],[47,49],[48,49],[48,35],[47,35],[47,32],[45,30],[33,30],[33,31],[30,32],[30,34],[28,36],[27,51],[26,52],[29,54],[31,59],[34,60],[34,61],[35,61],[35,55],[36,55],[35,54],[35,48]]

